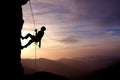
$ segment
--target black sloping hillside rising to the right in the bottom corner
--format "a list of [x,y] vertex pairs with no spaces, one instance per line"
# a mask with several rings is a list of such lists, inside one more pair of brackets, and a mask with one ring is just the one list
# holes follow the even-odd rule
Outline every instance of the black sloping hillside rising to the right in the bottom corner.
[[120,80],[120,62],[94,72],[85,80]]

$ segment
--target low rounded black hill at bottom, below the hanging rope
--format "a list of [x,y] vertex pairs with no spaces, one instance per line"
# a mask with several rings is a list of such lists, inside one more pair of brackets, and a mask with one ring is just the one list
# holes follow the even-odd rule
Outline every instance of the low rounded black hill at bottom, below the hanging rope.
[[50,72],[36,72],[31,75],[25,75],[23,80],[69,80],[69,79]]

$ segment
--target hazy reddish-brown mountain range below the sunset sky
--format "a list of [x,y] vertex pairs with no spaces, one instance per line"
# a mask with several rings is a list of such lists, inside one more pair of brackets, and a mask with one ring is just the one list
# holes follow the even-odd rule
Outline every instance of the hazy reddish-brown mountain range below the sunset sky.
[[106,69],[119,62],[120,58],[118,56],[89,56],[72,59],[61,58],[58,60],[50,60],[45,58],[39,58],[36,60],[22,59],[25,74],[47,71],[65,76],[71,80],[82,80],[84,77],[89,76],[96,71]]

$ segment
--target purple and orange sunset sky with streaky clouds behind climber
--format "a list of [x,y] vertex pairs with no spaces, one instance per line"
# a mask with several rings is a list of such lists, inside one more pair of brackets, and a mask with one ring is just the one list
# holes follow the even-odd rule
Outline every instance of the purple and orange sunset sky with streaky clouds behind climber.
[[[47,28],[37,58],[120,55],[120,0],[31,0],[31,6],[35,26],[28,2],[22,35]],[[34,43],[22,50],[22,58],[35,58]]]

